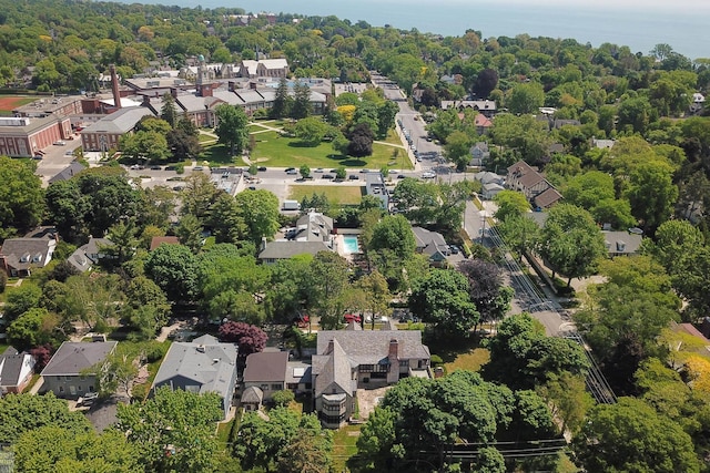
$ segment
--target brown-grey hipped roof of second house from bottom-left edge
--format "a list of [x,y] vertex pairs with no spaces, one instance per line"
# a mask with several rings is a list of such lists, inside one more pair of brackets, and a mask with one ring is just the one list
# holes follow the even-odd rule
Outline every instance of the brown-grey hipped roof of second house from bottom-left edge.
[[49,360],[42,376],[78,376],[105,360],[116,345],[118,341],[65,341]]

